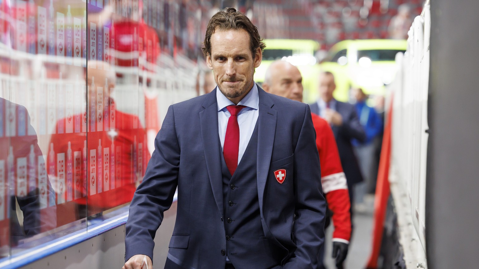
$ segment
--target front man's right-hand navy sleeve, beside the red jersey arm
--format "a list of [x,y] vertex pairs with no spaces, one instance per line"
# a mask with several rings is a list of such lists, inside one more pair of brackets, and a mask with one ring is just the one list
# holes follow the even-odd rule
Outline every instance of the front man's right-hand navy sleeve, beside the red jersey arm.
[[295,225],[297,249],[285,269],[316,269],[324,243],[326,202],[322,195],[319,154],[309,106],[294,151]]

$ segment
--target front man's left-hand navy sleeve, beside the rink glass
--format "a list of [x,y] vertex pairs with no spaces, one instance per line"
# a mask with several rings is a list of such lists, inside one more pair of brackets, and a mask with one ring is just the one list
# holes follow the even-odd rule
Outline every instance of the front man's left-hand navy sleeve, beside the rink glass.
[[153,258],[153,239],[170,208],[178,185],[180,147],[178,144],[173,107],[155,138],[155,150],[148,162],[143,182],[130,204],[125,235],[125,261],[137,254]]

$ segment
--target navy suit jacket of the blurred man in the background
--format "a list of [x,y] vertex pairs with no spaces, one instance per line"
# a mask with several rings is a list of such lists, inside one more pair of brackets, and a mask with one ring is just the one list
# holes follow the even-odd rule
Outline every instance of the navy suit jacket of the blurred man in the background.
[[[311,104],[311,112],[319,115],[318,103]],[[354,155],[352,139],[364,141],[366,134],[359,122],[356,113],[356,108],[348,103],[339,102],[336,100],[336,111],[342,116],[342,125],[332,125],[331,129],[338,145],[339,157],[341,159],[342,169],[346,175],[348,186],[363,181],[363,176],[359,165]]]

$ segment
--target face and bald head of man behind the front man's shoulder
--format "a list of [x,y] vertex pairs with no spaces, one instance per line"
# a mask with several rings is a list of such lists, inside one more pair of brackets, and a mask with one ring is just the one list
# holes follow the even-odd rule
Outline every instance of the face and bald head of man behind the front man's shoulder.
[[268,91],[282,97],[303,101],[303,77],[296,66],[279,62],[271,66],[271,85]]

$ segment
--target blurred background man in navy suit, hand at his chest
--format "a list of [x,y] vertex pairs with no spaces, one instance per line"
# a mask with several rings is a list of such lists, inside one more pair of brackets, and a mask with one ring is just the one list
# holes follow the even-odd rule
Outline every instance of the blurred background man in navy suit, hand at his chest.
[[354,155],[351,140],[364,141],[366,134],[359,122],[354,105],[333,98],[332,94],[335,89],[334,75],[331,72],[321,73],[319,75],[319,98],[316,103],[310,106],[312,113],[326,119],[331,125],[338,145],[342,169],[346,175],[352,209],[354,185],[362,182],[363,176]]

